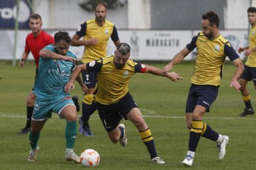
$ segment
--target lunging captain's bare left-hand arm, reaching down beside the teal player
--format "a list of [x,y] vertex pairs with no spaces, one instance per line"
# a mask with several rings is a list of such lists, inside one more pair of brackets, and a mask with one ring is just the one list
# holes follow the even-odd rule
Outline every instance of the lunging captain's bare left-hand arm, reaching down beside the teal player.
[[81,64],[81,65],[78,65],[77,67],[75,67],[75,70],[73,71],[72,75],[69,78],[69,82],[67,82],[67,84],[64,87],[64,90],[66,93],[69,93],[70,89],[75,88],[74,81],[75,81],[75,79],[77,79],[77,77],[80,75],[80,73],[83,70],[87,71],[86,64]]

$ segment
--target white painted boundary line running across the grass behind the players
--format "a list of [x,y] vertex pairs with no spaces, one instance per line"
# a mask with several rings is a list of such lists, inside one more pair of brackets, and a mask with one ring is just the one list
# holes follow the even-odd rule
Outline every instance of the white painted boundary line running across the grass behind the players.
[[[52,115],[54,118],[59,118],[59,116],[57,115]],[[79,117],[80,115],[78,115]],[[144,118],[164,118],[164,119],[185,119],[185,116],[160,116],[160,115],[143,115]],[[0,115],[0,118],[27,118],[27,116],[20,116],[20,115]],[[100,119],[98,117],[98,115],[92,115],[90,120],[93,120],[93,119]],[[237,118],[223,118],[223,117],[206,117],[206,118],[203,118],[203,119],[226,119],[226,120],[234,120],[234,119],[244,119],[244,118],[241,118],[241,117],[238,117]],[[255,119],[255,118],[252,118],[250,117],[250,119]],[[246,121],[248,119],[245,119]]]

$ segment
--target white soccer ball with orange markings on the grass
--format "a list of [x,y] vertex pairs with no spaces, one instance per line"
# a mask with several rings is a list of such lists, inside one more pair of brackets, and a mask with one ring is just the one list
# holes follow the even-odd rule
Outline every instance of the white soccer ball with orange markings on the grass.
[[100,163],[100,155],[93,149],[84,150],[81,153],[80,161],[83,166],[93,167]]

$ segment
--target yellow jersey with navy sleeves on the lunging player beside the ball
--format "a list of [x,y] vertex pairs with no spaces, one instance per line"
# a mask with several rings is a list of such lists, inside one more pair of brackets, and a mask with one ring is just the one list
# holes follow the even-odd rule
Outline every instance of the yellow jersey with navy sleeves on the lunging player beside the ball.
[[105,57],[86,64],[88,71],[97,72],[95,99],[103,105],[118,102],[128,92],[128,81],[138,72],[145,71],[145,65],[127,60],[126,65],[117,69],[114,65],[114,56]]

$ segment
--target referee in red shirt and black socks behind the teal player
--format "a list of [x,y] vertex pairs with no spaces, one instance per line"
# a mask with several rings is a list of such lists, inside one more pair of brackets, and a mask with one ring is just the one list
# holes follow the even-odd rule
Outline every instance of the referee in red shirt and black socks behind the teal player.
[[[29,27],[32,30],[32,33],[27,35],[26,42],[25,42],[25,50],[22,54],[22,59],[20,60],[20,67],[24,67],[25,63],[28,59],[28,54],[30,51],[33,54],[36,64],[36,75],[38,72],[38,62],[39,62],[39,52],[43,47],[47,46],[48,44],[53,44],[54,39],[53,36],[45,33],[45,31],[41,30],[41,26],[43,23],[41,22],[41,16],[38,14],[30,15],[29,19]],[[35,77],[36,77],[35,75]],[[27,97],[27,124],[26,126],[21,129],[18,134],[27,134],[30,130],[31,125],[31,117],[34,109],[35,104],[35,94],[30,91]]]

